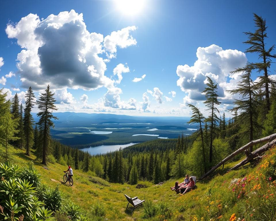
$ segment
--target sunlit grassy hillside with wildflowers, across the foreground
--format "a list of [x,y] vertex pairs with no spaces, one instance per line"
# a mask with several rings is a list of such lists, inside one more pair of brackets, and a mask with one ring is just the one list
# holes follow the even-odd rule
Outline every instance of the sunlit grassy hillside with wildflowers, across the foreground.
[[[51,179],[60,182],[66,169],[57,163],[44,169],[33,155],[27,157],[20,149],[16,149],[13,159],[20,165],[34,161],[43,182],[52,187],[57,183]],[[161,186],[139,182],[147,188],[137,189],[136,185],[108,183],[79,170],[74,170],[74,185],[61,184],[60,190],[66,199],[87,211],[91,220],[276,220],[275,162],[276,148],[272,148],[256,167],[246,165],[224,174],[236,162],[228,163],[223,171],[218,169],[212,179],[197,182],[198,188],[183,196],[170,190],[176,181],[173,179]],[[239,179],[237,184],[229,186],[234,178]],[[145,199],[144,207],[132,214],[126,210],[124,194]],[[104,218],[90,216],[95,203],[104,205]]]

